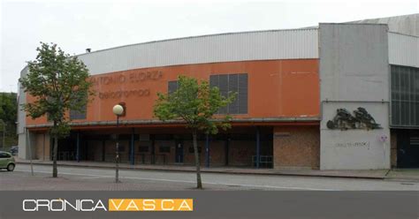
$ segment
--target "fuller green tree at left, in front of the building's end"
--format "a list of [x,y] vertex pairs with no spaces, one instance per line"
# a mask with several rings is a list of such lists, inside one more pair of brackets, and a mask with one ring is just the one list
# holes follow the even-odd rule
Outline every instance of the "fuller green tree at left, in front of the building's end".
[[70,133],[69,110],[85,110],[94,91],[88,81],[88,69],[77,57],[71,57],[57,48],[57,44],[43,43],[36,49],[38,55],[27,63],[29,72],[19,79],[33,102],[23,109],[33,119],[46,116],[52,122],[50,134],[54,138],[52,177],[57,177],[58,138]]

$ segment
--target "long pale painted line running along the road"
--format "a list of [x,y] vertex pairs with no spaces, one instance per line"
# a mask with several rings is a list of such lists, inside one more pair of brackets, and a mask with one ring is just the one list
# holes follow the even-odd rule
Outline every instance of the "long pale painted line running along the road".
[[[31,172],[30,170],[15,170],[20,172]],[[51,173],[50,171],[34,171],[38,173]],[[83,176],[83,177],[114,177],[106,175],[97,175],[97,174],[84,174],[84,173],[71,173],[71,172],[60,172],[59,174],[72,175],[72,176]],[[196,181],[187,181],[187,180],[177,180],[177,179],[164,179],[164,178],[150,178],[150,177],[120,177],[126,179],[140,179],[140,180],[150,180],[150,181],[162,181],[162,182],[173,182],[173,183],[188,183],[195,184]],[[243,186],[243,187],[255,187],[255,188],[270,188],[270,189],[290,189],[290,190],[312,190],[312,191],[336,191],[332,189],[319,189],[319,188],[310,188],[310,187],[294,187],[294,186],[276,186],[276,185],[250,185],[250,184],[229,184],[229,183],[211,183],[202,181],[202,184],[209,185],[229,185],[229,186]]]

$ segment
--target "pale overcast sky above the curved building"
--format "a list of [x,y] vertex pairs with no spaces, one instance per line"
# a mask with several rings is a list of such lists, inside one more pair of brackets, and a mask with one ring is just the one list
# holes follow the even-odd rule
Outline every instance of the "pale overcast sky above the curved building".
[[40,42],[71,55],[202,34],[316,26],[419,12],[419,1],[0,0],[0,92],[16,92]]

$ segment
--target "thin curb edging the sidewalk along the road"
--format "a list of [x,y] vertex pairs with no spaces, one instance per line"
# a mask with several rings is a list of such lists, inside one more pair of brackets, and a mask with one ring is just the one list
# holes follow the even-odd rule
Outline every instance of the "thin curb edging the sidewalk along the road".
[[[30,162],[17,162],[21,164],[30,164]],[[51,166],[52,163],[33,163],[34,165]],[[58,163],[57,166],[67,167],[88,167],[100,169],[114,169],[109,166],[95,166],[95,165],[75,165],[68,163]],[[119,167],[119,170],[150,170],[150,171],[168,171],[168,172],[195,172],[195,170],[171,170],[171,169],[158,169],[158,168],[141,168],[141,167]],[[222,171],[222,170],[201,170],[203,173],[219,173],[219,174],[237,174],[237,175],[261,175],[261,176],[286,176],[286,177],[332,177],[332,178],[358,178],[358,179],[385,179],[386,177],[369,177],[369,176],[345,176],[345,175],[315,175],[304,173],[275,173],[275,172],[244,172],[244,171]]]

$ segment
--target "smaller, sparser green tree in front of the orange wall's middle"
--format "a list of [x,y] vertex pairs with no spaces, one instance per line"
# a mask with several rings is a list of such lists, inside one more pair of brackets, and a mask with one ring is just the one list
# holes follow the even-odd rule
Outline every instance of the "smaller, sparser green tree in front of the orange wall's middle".
[[216,134],[218,128],[230,128],[231,117],[226,115],[214,119],[218,109],[227,106],[236,94],[223,96],[218,87],[209,87],[208,81],[179,76],[178,89],[171,94],[157,94],[154,114],[160,120],[180,120],[192,131],[197,188],[202,189],[200,160],[197,143],[199,131]]

